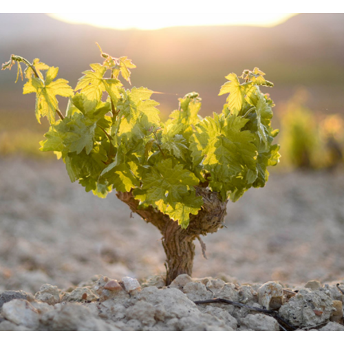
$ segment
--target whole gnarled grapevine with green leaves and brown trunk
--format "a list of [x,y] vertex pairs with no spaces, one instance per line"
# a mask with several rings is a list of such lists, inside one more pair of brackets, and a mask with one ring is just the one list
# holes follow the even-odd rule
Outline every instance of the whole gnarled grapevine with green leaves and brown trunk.
[[[92,63],[74,89],[56,79],[58,67],[38,58],[30,63],[12,55],[3,69],[17,63],[17,80],[27,80],[23,94],[36,94],[36,119],[50,123],[41,151],[63,160],[71,182],[98,197],[116,191],[131,211],[160,230],[169,284],[181,273],[191,275],[193,241],[204,248],[200,236],[223,226],[228,200],[263,187],[268,166],[279,162],[274,103],[260,91],[273,85],[257,67],[240,77],[230,73],[219,92],[228,94],[221,114],[202,118],[200,95],[191,92],[162,122],[153,91],[123,85],[131,85],[136,65],[101,48],[100,55],[103,63]],[[65,114],[56,96],[69,98]]]

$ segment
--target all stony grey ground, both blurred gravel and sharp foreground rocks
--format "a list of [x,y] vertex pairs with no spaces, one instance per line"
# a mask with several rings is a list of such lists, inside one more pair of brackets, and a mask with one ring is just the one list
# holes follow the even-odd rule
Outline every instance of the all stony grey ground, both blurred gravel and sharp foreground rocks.
[[160,233],[115,194],[1,158],[0,331],[344,330],[343,209],[343,171],[272,173],[165,288]]

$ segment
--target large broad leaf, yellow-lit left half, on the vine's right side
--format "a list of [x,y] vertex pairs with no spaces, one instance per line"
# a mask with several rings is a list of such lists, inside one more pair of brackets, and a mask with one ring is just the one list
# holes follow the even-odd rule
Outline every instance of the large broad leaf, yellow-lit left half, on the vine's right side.
[[[204,118],[196,127],[192,137],[192,155],[195,165],[200,164],[211,173],[209,186],[221,193],[227,193],[252,184],[257,178],[257,148],[252,142],[255,136],[242,130],[248,119],[239,116],[224,117],[214,114],[214,118]],[[246,187],[244,188],[246,191]]]

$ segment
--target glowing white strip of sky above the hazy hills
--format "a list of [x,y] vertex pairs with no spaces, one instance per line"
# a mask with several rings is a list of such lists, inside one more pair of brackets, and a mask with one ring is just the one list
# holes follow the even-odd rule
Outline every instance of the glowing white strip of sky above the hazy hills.
[[253,25],[271,27],[297,13],[47,13],[67,23],[120,30],[157,30],[173,26]]

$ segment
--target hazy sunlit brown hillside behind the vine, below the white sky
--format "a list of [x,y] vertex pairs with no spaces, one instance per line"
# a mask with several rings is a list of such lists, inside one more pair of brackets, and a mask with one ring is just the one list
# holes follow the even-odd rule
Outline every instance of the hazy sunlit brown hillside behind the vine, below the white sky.
[[[162,104],[162,111],[178,107],[179,97],[196,91],[204,100],[202,115],[219,112],[225,96],[217,94],[226,81],[224,76],[257,66],[275,83],[266,92],[277,105],[302,85],[312,95],[313,110],[334,113],[343,111],[343,34],[343,13],[303,13],[274,28],[153,31],[73,25],[43,13],[1,13],[0,62],[8,61],[10,54],[30,61],[39,57],[60,67],[59,76],[74,86],[89,63],[101,61],[97,41],[105,52],[129,56],[138,66],[133,70],[132,85],[166,92],[153,97]],[[21,96],[22,83],[14,84],[15,74],[0,73],[0,116],[5,111],[28,109],[33,114],[34,96]]]

